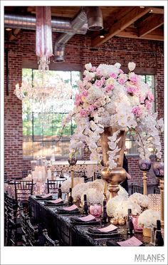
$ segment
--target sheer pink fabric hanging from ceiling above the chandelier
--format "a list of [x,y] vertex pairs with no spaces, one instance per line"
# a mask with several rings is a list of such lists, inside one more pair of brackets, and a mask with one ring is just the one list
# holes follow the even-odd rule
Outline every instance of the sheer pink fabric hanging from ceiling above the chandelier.
[[40,65],[53,56],[50,6],[36,6],[36,56]]

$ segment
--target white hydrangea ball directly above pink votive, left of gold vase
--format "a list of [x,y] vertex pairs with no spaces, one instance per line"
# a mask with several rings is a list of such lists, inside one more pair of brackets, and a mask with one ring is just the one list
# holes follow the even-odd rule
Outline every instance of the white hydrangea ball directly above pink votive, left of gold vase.
[[90,188],[85,190],[85,192],[83,192],[80,197],[82,203],[84,199],[84,194],[86,194],[88,204],[103,204],[103,193],[98,192],[97,189]]

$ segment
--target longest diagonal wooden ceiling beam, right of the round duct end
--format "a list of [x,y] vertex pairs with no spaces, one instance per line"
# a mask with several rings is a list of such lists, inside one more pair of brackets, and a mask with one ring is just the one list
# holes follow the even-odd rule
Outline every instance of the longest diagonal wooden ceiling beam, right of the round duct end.
[[122,17],[119,21],[113,24],[110,28],[109,33],[105,36],[105,38],[96,37],[92,41],[93,47],[98,47],[101,44],[108,41],[113,36],[117,35],[120,31],[123,31],[125,28],[130,26],[132,23],[140,19],[145,14],[149,13],[151,8],[145,7],[144,9],[140,9],[139,6],[136,6],[132,11],[128,12],[125,16]]

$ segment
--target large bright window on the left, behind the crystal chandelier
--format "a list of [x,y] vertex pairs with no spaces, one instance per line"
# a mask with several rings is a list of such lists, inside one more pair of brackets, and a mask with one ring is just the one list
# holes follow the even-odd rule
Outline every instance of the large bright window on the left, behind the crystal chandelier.
[[[55,155],[58,159],[68,157],[70,135],[73,134],[75,123],[73,120],[62,130],[63,117],[73,109],[75,93],[78,92],[76,82],[80,80],[79,71],[49,71],[51,78],[60,76],[65,83],[73,87],[73,94],[65,102],[46,102],[48,108],[41,111],[38,104],[30,100],[23,100],[23,156],[36,157]],[[38,70],[26,69],[22,71],[23,80],[33,83],[38,78]],[[65,93],[65,91],[63,91]],[[61,139],[60,139],[61,137]],[[58,141],[59,140],[59,141]],[[82,155],[81,150],[78,155]]]

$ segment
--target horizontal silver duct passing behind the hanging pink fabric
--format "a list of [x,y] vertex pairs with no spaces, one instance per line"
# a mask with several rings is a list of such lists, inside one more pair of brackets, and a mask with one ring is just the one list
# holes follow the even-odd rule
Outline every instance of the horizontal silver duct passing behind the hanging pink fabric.
[[[86,21],[87,22],[87,21]],[[15,14],[4,14],[4,25],[6,28],[23,28],[36,30],[36,16],[23,16]],[[74,29],[71,25],[71,20],[60,17],[51,18],[52,31],[55,32],[67,32],[85,34],[87,32],[88,25],[83,24],[82,27]]]

